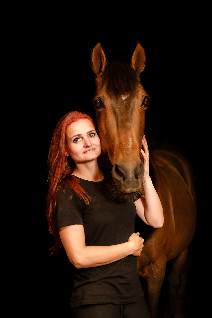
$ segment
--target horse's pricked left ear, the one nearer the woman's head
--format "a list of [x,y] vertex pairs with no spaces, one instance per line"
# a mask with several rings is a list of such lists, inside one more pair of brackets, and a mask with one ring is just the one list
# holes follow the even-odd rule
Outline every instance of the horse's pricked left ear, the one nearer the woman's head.
[[91,66],[96,73],[96,76],[99,76],[99,74],[104,71],[106,64],[105,52],[103,51],[101,44],[98,43],[93,48],[91,56]]

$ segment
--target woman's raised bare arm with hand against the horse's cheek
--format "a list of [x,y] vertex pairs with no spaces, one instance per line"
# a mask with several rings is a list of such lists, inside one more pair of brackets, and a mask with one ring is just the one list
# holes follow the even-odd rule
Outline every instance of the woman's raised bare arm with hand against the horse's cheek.
[[140,149],[141,160],[144,162],[144,178],[143,187],[145,196],[135,201],[135,206],[138,216],[148,225],[154,228],[163,226],[163,208],[158,194],[154,188],[152,180],[149,176],[149,151],[145,136],[142,139],[142,146]]

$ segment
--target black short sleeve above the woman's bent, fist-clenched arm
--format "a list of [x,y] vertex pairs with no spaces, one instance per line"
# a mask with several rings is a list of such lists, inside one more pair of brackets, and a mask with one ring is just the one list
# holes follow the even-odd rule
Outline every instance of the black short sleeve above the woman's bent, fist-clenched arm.
[[69,186],[65,186],[65,191],[63,187],[58,189],[54,210],[54,220],[57,230],[62,226],[83,225],[82,211],[85,209],[85,204],[75,192],[72,195],[72,191],[72,188]]

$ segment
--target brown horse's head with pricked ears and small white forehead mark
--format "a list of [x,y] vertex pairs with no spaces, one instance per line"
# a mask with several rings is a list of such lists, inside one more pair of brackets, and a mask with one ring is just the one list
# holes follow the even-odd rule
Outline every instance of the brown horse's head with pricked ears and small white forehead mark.
[[140,190],[144,174],[140,148],[149,96],[140,83],[140,73],[145,59],[140,43],[133,53],[131,66],[125,62],[108,64],[100,43],[92,51],[92,67],[97,76],[94,103],[101,149],[113,165],[117,188],[126,194]]

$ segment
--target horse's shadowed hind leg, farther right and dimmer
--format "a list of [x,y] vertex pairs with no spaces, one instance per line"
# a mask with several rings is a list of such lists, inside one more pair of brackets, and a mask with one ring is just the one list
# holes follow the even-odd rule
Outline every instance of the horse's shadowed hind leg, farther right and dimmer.
[[170,312],[169,317],[174,318],[175,317],[175,305],[176,305],[176,297],[177,292],[181,285],[181,271],[183,268],[183,265],[186,262],[188,256],[188,247],[181,252],[181,254],[177,257],[175,257],[172,260],[172,266],[171,266],[171,273],[168,277],[170,287],[169,287],[169,304],[170,304]]

